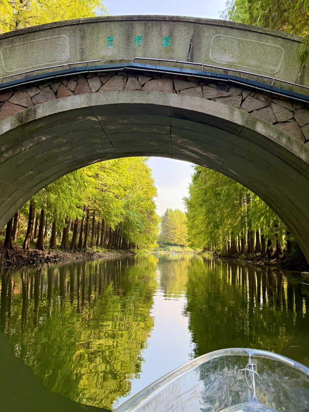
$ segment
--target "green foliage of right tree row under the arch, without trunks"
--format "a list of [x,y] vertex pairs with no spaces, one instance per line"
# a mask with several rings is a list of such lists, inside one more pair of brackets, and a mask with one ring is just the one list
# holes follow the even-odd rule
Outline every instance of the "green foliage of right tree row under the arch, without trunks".
[[282,242],[286,226],[257,195],[221,173],[202,166],[194,170],[185,198],[191,247],[225,250],[227,240],[248,230]]

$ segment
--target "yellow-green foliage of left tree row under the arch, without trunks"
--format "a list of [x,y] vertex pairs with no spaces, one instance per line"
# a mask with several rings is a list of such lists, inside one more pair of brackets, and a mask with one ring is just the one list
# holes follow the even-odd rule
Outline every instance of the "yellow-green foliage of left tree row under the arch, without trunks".
[[[21,215],[23,222],[28,221],[30,202],[37,216],[44,207],[47,229],[56,222],[60,231],[67,221],[81,220],[84,211],[91,211],[95,223],[103,219],[106,230],[118,227],[138,249],[152,250],[157,245],[159,227],[156,196],[147,158],[115,159],[84,167],[54,181],[21,208]],[[91,224],[89,221],[88,230]]]

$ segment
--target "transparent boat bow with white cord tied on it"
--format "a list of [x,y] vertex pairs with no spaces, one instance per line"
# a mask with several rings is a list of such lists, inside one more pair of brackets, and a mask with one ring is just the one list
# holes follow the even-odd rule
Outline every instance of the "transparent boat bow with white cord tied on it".
[[[240,371],[250,361],[256,363],[259,374],[255,379],[256,398],[244,372]],[[241,348],[200,356],[147,386],[117,408],[117,412],[267,410],[309,410],[309,369],[276,353]]]

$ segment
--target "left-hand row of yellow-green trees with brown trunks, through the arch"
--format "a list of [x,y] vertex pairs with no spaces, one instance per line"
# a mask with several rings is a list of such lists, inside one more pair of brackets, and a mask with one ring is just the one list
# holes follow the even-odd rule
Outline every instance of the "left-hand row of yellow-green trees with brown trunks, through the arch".
[[24,249],[37,239],[36,249],[44,250],[48,238],[52,249],[57,243],[73,251],[89,246],[152,249],[159,224],[156,195],[145,157],[87,166],[51,183],[17,211],[7,223],[5,248],[13,248],[21,231],[26,232]]

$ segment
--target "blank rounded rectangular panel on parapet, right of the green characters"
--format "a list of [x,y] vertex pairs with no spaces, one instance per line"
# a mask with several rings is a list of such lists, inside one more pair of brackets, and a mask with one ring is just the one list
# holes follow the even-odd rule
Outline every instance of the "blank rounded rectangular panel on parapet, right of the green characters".
[[284,49],[276,44],[217,34],[211,40],[209,57],[214,63],[234,65],[275,74],[279,72]]

